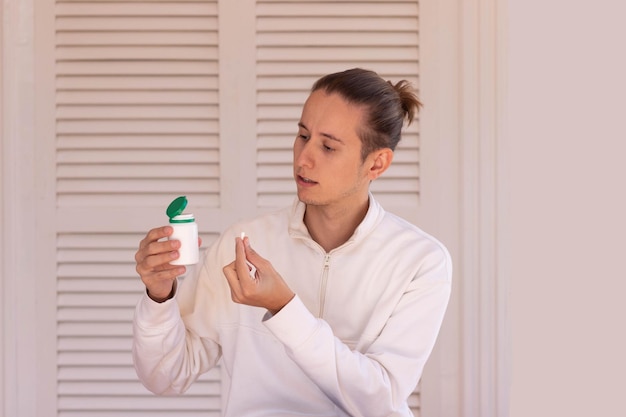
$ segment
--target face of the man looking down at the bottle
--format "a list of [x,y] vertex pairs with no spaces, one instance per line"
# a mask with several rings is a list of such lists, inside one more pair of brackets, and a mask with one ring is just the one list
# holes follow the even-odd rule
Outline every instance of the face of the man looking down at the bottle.
[[[300,201],[346,207],[366,198],[368,160],[361,160],[363,108],[338,94],[317,90],[304,104],[293,146],[293,171]],[[349,207],[349,206],[348,206]]]

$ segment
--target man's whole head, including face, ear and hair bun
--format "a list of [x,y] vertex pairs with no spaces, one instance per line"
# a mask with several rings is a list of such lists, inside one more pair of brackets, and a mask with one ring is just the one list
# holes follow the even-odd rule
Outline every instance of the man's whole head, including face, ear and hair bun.
[[318,80],[302,109],[294,142],[300,201],[351,207],[367,201],[369,184],[387,170],[403,122],[419,102],[410,85],[352,69]]

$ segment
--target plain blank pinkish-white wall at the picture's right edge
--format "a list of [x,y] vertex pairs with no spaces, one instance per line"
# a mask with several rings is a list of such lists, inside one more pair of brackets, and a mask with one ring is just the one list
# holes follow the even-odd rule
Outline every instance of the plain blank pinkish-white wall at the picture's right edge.
[[623,416],[626,6],[508,8],[510,416]]

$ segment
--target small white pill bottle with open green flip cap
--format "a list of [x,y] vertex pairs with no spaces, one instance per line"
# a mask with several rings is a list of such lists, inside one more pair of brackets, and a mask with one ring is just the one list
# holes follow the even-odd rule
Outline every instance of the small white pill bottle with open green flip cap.
[[183,214],[186,207],[187,197],[181,196],[172,201],[166,210],[170,226],[174,229],[169,240],[180,240],[180,256],[170,262],[172,265],[195,265],[199,260],[198,224],[193,214]]

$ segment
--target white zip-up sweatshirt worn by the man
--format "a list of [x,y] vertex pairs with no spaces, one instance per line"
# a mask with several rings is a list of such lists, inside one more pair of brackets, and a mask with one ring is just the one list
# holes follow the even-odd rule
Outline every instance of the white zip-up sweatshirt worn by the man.
[[[450,297],[448,251],[370,195],[354,235],[326,253],[304,211],[296,200],[229,228],[173,299],[142,296],[133,359],[149,390],[183,393],[221,360],[228,417],[412,415]],[[231,300],[222,268],[242,231],[296,293],[274,316]]]

